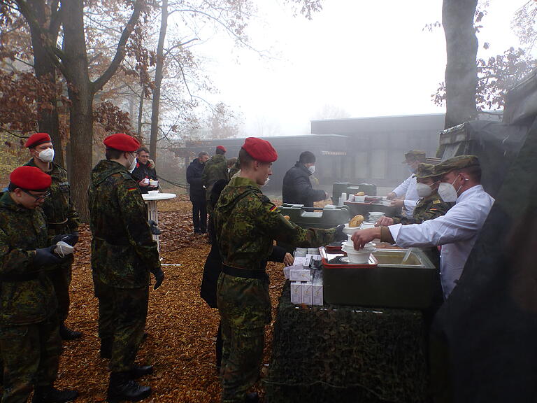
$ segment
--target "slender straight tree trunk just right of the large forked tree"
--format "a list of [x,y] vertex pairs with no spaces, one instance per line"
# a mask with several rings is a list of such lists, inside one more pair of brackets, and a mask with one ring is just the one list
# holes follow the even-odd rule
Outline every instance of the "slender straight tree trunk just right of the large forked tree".
[[155,66],[155,89],[151,110],[151,137],[149,154],[157,160],[157,136],[159,134],[160,86],[162,84],[162,69],[164,66],[164,38],[168,29],[168,0],[162,0],[162,15],[160,20],[159,43],[157,45],[157,65]]

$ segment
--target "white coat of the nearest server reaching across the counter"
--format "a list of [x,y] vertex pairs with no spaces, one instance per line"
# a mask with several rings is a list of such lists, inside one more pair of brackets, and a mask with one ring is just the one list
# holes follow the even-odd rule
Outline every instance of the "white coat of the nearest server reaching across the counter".
[[462,192],[445,215],[421,224],[390,225],[389,232],[403,248],[443,245],[440,271],[446,299],[462,274],[492,204],[494,198],[476,185]]

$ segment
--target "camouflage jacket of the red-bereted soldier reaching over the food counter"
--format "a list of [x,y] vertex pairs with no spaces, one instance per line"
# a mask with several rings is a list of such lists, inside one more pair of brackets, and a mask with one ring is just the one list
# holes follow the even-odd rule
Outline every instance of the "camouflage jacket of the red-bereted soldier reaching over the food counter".
[[[243,196],[245,192],[247,195]],[[303,229],[286,220],[259,186],[240,176],[222,190],[215,208],[215,231],[222,262],[258,269],[271,255],[273,240],[302,248],[334,241],[335,228]]]

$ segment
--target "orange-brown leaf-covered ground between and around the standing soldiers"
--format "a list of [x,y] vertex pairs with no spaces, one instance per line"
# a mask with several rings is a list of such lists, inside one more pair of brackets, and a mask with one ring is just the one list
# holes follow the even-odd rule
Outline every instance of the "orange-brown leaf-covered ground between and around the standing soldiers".
[[[185,196],[159,204],[162,262],[180,266],[164,266],[164,283],[150,293],[149,337],[138,353],[138,362],[155,365],[155,373],[141,380],[153,390],[144,402],[220,401],[220,382],[214,365],[218,313],[199,297],[203,264],[210,246],[204,236],[194,236],[191,208]],[[99,358],[90,242],[90,232],[84,227],[76,248],[71,313],[67,320],[69,327],[80,330],[84,336],[64,343],[57,386],[77,389],[77,402],[93,403],[106,401],[108,360]],[[284,283],[282,264],[268,264],[267,270],[274,317]],[[272,326],[267,326],[266,331],[264,362],[268,364]]]

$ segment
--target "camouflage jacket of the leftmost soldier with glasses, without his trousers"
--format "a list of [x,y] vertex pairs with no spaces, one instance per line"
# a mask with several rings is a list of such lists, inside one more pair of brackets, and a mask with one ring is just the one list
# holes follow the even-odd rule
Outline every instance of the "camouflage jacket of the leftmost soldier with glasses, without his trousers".
[[[15,204],[9,192],[4,193],[0,198],[1,324],[38,323],[55,313],[57,301],[46,268],[34,266],[36,249],[48,244],[41,208],[24,208]],[[32,275],[36,277],[21,281]]]

